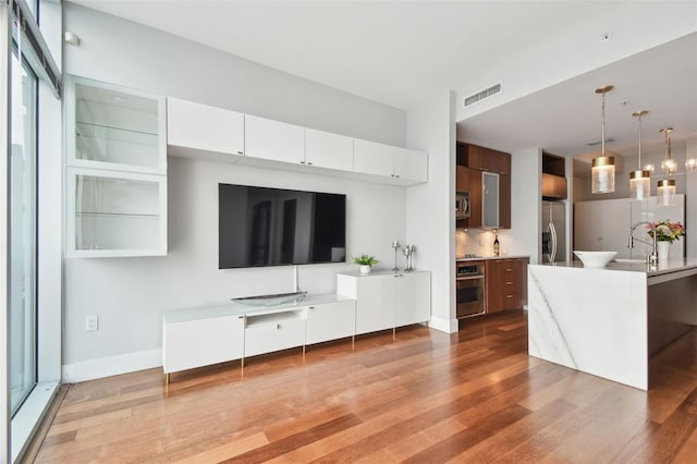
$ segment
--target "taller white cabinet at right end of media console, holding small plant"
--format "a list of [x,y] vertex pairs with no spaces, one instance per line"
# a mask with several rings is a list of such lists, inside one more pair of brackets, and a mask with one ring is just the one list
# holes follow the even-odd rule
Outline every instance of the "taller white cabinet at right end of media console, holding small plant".
[[430,272],[356,272],[337,276],[337,293],[356,300],[356,333],[368,333],[431,317]]

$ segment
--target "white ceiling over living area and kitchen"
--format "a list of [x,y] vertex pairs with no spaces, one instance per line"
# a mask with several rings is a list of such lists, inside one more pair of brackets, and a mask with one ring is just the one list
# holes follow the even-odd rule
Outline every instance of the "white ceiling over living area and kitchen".
[[[600,138],[594,88],[604,84],[616,86],[608,94],[608,136],[617,141],[610,149],[633,148],[637,109],[650,111],[647,138],[667,123],[675,141],[697,136],[697,0],[73,2],[405,110],[433,91],[469,91],[494,76],[506,89],[523,75],[528,85],[509,86],[504,105],[482,105],[458,123],[461,138],[498,149],[588,151]],[[604,33],[610,45],[599,46]],[[526,69],[554,45],[564,57],[550,54],[539,76]]]

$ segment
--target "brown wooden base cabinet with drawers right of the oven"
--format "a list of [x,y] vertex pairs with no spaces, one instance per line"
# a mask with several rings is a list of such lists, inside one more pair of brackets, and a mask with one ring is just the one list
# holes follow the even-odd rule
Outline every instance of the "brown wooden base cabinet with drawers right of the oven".
[[522,308],[527,304],[528,258],[489,259],[486,264],[486,313]]

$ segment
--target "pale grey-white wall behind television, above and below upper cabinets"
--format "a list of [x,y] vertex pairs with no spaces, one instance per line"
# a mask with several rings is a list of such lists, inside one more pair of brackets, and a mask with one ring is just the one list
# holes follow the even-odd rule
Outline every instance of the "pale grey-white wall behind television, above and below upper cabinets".
[[[89,9],[65,3],[64,72],[271,119],[404,146],[406,115]],[[347,256],[376,255],[392,267],[406,241],[406,190],[313,174],[170,157],[168,256],[64,261],[64,381],[160,363],[163,310],[224,304],[230,297],[293,289],[291,267],[218,270],[218,183],[347,195]],[[379,198],[379,200],[376,200]],[[418,243],[417,240],[414,240]],[[351,265],[298,267],[299,285],[334,291]],[[87,315],[99,330],[84,330]]]

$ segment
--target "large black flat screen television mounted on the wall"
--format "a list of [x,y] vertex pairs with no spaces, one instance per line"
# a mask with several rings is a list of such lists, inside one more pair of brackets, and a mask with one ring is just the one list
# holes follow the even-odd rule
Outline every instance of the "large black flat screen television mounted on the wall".
[[218,268],[344,262],[346,195],[218,184]]

